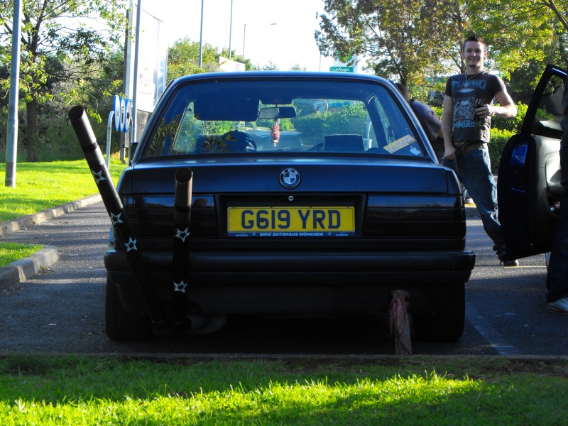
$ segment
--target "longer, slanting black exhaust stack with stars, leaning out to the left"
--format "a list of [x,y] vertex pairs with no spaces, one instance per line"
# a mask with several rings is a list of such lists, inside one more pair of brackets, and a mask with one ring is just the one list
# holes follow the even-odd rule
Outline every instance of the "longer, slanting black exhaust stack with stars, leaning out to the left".
[[142,253],[136,247],[136,236],[132,231],[128,217],[126,217],[126,211],[118,192],[116,192],[84,108],[80,106],[72,107],[69,111],[69,119],[77,139],[79,139],[94,180],[97,182],[97,187],[104,202],[104,207],[106,207],[109,213],[114,232],[123,246],[126,259],[129,261],[136,277],[136,283],[138,283],[143,300],[146,302],[153,325],[155,328],[163,329],[168,326],[168,318],[165,315],[163,306],[160,304],[158,292],[151,285],[150,275],[146,271]]

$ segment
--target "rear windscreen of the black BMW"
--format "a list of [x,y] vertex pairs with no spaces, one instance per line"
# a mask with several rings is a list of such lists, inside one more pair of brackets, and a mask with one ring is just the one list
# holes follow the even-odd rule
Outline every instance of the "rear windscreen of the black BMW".
[[179,87],[141,157],[344,153],[425,158],[399,99],[379,84],[196,82]]

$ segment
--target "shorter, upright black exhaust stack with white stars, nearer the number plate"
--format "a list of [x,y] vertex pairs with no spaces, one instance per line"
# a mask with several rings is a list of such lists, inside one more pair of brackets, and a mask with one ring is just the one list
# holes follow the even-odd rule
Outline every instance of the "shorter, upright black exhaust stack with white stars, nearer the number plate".
[[190,244],[190,219],[193,172],[189,168],[180,168],[175,173],[174,224],[173,239],[173,288],[172,288],[172,325],[176,331],[183,331],[188,319],[185,316],[187,305],[187,285],[189,268],[187,256]]

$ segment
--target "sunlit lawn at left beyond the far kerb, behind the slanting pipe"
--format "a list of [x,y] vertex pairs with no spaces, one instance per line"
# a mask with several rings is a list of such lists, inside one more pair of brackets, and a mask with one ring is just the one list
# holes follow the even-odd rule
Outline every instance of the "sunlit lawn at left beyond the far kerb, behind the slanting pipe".
[[[113,181],[126,165],[111,158]],[[16,187],[6,187],[6,165],[0,163],[0,222],[80,200],[98,193],[85,160],[17,163]]]

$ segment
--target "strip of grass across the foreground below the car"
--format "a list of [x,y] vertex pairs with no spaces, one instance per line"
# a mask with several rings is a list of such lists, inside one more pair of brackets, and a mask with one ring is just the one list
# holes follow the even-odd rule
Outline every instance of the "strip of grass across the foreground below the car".
[[8,356],[0,424],[560,425],[568,417],[566,361],[169,362]]

